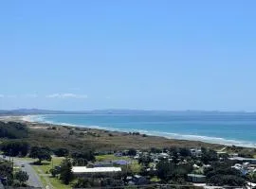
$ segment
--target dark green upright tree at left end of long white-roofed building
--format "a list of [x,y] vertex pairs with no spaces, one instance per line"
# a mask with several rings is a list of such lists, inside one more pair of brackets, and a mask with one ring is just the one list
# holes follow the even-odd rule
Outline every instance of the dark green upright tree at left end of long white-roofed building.
[[62,180],[64,184],[69,184],[73,178],[72,163],[70,159],[66,158],[61,164],[60,180]]

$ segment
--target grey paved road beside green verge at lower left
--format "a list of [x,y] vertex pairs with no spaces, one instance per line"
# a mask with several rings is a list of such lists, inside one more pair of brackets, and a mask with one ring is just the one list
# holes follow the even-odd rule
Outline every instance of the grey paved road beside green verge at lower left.
[[[3,158],[2,155],[0,157]],[[5,159],[9,160],[9,157],[6,157]],[[11,158],[11,160],[12,160],[12,158]],[[39,176],[37,175],[37,173],[35,172],[33,167],[29,164],[29,163],[32,163],[31,161],[13,158],[13,163],[20,167],[22,166],[22,164],[24,164],[24,167],[21,167],[21,168],[23,171],[26,171],[27,175],[29,176],[29,179],[27,180],[28,185],[44,188]]]

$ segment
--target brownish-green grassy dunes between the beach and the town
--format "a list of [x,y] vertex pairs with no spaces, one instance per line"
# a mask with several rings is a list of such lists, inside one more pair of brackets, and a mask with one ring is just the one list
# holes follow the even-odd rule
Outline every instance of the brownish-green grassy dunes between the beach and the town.
[[[221,148],[198,141],[174,140],[157,136],[133,135],[125,132],[102,129],[84,129],[56,126],[58,129],[48,129],[56,125],[27,123],[28,138],[26,141],[34,146],[50,148],[64,147],[69,151],[92,149],[95,151],[113,151],[129,148],[149,149],[151,147],[210,147]],[[70,135],[70,129],[73,130]],[[85,132],[86,131],[86,132]],[[93,133],[93,134],[92,134]],[[117,158],[116,158],[117,159]]]

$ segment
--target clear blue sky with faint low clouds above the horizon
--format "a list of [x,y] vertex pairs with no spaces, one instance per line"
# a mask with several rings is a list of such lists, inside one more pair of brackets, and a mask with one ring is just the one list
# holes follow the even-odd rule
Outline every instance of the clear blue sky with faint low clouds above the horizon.
[[0,3],[0,110],[256,111],[254,0]]

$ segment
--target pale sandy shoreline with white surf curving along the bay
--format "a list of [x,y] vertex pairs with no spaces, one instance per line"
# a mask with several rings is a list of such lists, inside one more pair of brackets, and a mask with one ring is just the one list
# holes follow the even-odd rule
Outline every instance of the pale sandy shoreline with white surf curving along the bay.
[[[131,133],[131,132],[138,132],[139,134],[144,134],[151,137],[161,137],[167,140],[177,140],[177,141],[187,141],[193,143],[206,143],[210,145],[216,146],[240,146],[240,147],[247,147],[247,148],[256,148],[256,144],[248,144],[249,142],[237,142],[235,140],[229,140],[224,138],[217,138],[217,137],[208,137],[208,136],[199,136],[199,135],[186,135],[186,134],[177,134],[177,133],[169,133],[169,132],[157,132],[157,131],[147,131],[147,130],[139,130],[139,129],[129,129],[129,130],[121,130],[115,128],[103,128],[99,126],[84,126],[84,125],[73,125],[68,123],[53,123],[47,121],[38,121],[33,117],[42,116],[40,115],[22,115],[22,116],[3,116],[0,117],[1,120],[5,121],[17,121],[17,122],[25,122],[29,124],[40,124],[40,125],[52,125],[52,126],[64,126],[64,127],[71,127],[71,128],[81,128],[81,129],[98,129],[104,131],[111,131],[111,132],[119,132],[119,133]],[[45,114],[44,114],[45,115]],[[43,115],[43,116],[44,116]],[[1,119],[3,118],[3,119]],[[218,140],[218,141],[216,141]]]

